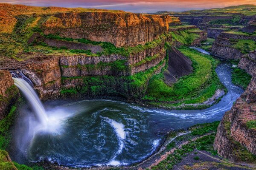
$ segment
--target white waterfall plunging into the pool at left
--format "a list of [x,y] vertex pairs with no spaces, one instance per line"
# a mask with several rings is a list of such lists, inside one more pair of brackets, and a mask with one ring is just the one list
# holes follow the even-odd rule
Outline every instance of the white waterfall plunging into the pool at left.
[[[41,125],[46,127],[48,122],[48,116],[45,112],[42,102],[40,101],[34,89],[24,79],[15,77],[13,77],[12,79],[14,80],[14,84],[20,89],[20,91],[22,91],[29,104],[32,106],[32,109],[35,112],[35,115],[40,121]],[[26,77],[26,79],[28,78]]]

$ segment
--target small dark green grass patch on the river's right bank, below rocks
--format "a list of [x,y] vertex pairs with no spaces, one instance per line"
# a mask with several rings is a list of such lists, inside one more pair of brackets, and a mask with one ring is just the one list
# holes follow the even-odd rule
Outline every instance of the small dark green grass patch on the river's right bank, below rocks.
[[246,71],[241,68],[236,68],[232,71],[232,82],[234,85],[238,85],[244,90],[247,88],[250,83],[252,76],[247,74]]

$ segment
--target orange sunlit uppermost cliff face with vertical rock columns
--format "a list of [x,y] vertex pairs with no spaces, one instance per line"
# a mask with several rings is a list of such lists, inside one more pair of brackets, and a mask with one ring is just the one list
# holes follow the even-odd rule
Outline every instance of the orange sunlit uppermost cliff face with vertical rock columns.
[[42,24],[44,34],[111,42],[116,47],[144,45],[167,33],[169,16],[125,12],[72,12],[50,17]]

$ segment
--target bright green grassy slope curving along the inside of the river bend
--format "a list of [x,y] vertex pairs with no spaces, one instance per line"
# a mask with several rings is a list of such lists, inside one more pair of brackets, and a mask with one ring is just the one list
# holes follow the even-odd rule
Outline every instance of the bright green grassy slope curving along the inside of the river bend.
[[[191,48],[182,47],[179,50],[192,60],[193,73],[181,77],[171,86],[163,81],[163,71],[154,75],[148,83],[147,94],[143,99],[159,102],[181,100],[186,104],[201,103],[212,97],[217,89],[223,88],[215,73],[218,60]],[[154,105],[153,102],[151,104]]]

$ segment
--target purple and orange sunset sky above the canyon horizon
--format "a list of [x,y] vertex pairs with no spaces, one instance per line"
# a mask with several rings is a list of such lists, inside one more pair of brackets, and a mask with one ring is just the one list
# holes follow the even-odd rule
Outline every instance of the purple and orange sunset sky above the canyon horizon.
[[256,0],[0,0],[0,3],[29,6],[61,6],[102,8],[135,13],[156,11],[186,11],[190,9],[222,8],[241,4],[256,4]]

